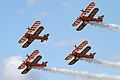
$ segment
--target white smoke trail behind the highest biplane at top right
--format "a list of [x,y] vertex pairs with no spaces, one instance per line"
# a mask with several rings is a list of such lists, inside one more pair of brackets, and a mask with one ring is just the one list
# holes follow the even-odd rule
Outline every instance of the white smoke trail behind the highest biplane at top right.
[[93,25],[93,26],[98,26],[98,27],[101,27],[101,28],[108,28],[108,29],[111,29],[111,30],[115,29],[117,31],[120,31],[120,26],[116,25],[116,24],[98,23],[98,22],[93,22],[93,21],[88,22],[88,24]]

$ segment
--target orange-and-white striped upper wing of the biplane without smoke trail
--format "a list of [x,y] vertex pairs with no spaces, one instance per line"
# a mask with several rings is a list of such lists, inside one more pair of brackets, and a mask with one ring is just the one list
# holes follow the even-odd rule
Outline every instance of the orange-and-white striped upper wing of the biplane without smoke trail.
[[[28,32],[25,33],[25,35],[26,35],[26,34],[30,34],[32,31],[35,31],[36,28],[37,28],[39,25],[40,25],[40,21],[36,21],[36,22],[33,24],[33,26],[28,30]],[[24,42],[26,41],[27,38],[26,38],[25,35],[18,41],[18,43],[24,43]]]

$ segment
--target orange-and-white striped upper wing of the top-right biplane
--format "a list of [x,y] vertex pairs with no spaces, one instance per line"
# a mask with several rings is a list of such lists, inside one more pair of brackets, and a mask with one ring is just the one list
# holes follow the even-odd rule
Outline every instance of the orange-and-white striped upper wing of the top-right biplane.
[[72,24],[72,26],[77,26],[78,24],[80,24],[80,22],[82,21],[80,19],[80,17],[83,17],[84,15],[86,15],[87,13],[89,13],[91,11],[91,9],[95,6],[95,3],[92,2],[89,4],[89,6],[85,9],[85,11],[78,17],[78,19]]

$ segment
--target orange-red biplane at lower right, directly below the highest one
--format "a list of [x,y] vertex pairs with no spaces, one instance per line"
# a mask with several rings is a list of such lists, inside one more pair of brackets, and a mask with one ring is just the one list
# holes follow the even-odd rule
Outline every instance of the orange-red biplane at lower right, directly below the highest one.
[[70,60],[74,57],[69,65],[75,64],[79,59],[88,61],[94,58],[96,53],[90,53],[89,55],[86,54],[91,49],[90,46],[87,46],[81,53],[78,52],[79,50],[82,50],[87,44],[88,41],[83,41],[78,47],[75,46],[75,50],[73,50],[73,52],[65,58],[65,60]]

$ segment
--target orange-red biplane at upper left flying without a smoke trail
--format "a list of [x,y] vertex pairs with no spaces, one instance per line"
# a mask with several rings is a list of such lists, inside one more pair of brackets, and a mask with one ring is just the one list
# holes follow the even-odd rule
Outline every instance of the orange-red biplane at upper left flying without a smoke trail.
[[[18,41],[18,43],[24,43],[27,39],[28,41],[22,46],[23,48],[28,47],[35,39],[41,40],[43,42],[44,40],[48,40],[49,34],[46,34],[44,36],[39,36],[39,34],[43,31],[44,27],[40,26],[38,29],[37,27],[40,25],[40,21],[36,21],[31,28],[27,28],[28,31],[25,33],[25,35]],[[36,30],[37,29],[37,30]],[[36,32],[34,34],[31,34],[32,31]]]

